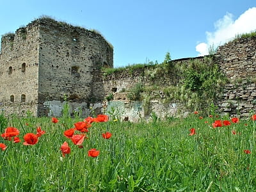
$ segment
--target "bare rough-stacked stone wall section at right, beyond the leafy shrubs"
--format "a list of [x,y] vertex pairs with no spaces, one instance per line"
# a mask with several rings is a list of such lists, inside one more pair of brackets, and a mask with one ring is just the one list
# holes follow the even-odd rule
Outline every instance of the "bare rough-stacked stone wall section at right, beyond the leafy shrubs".
[[228,83],[216,100],[223,115],[248,117],[256,112],[256,36],[237,38],[218,48],[216,62]]

